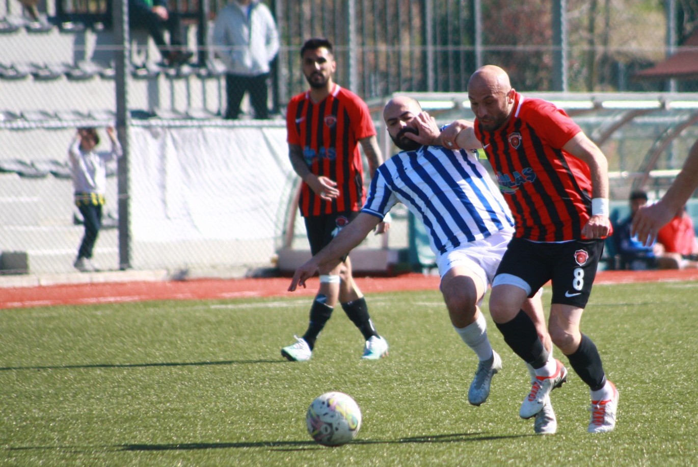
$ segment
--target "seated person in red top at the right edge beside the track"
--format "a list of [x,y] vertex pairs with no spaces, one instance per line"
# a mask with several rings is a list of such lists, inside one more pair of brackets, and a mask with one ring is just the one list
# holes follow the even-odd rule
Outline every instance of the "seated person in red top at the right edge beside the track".
[[662,246],[666,258],[665,264],[660,265],[662,269],[698,268],[698,242],[685,205],[659,230],[657,242]]

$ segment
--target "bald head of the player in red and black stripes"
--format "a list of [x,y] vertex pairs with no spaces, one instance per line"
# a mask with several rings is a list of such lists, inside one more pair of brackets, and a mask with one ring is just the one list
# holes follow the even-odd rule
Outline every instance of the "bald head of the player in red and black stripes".
[[514,108],[516,91],[502,68],[485,65],[468,81],[470,109],[484,130],[494,131],[507,123]]

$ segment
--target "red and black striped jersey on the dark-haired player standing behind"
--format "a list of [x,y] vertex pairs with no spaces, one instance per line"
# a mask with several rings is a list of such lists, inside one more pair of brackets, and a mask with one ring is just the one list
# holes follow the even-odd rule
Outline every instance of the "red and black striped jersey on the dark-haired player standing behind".
[[336,181],[339,189],[339,196],[327,201],[303,183],[298,202],[301,214],[307,217],[359,211],[366,201],[366,191],[358,142],[376,135],[368,105],[337,84],[319,103],[313,103],[306,91],[289,101],[286,128],[288,143],[302,148],[311,172]]

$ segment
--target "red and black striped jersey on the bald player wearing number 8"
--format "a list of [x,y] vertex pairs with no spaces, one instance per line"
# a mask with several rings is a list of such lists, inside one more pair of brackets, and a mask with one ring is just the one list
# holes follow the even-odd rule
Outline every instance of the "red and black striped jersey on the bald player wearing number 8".
[[514,215],[516,237],[582,238],[581,228],[591,217],[591,171],[562,149],[580,131],[553,103],[519,93],[503,128],[486,131],[475,119],[475,135]]

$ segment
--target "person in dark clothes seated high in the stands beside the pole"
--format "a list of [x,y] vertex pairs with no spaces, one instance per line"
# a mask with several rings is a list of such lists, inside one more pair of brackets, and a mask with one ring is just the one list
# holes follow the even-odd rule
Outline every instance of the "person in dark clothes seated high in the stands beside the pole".
[[[147,29],[158,46],[165,65],[177,66],[191,59],[182,40],[181,20],[176,10],[168,10],[166,0],[128,0],[128,24],[131,28]],[[170,45],[165,42],[163,29],[170,33]]]

